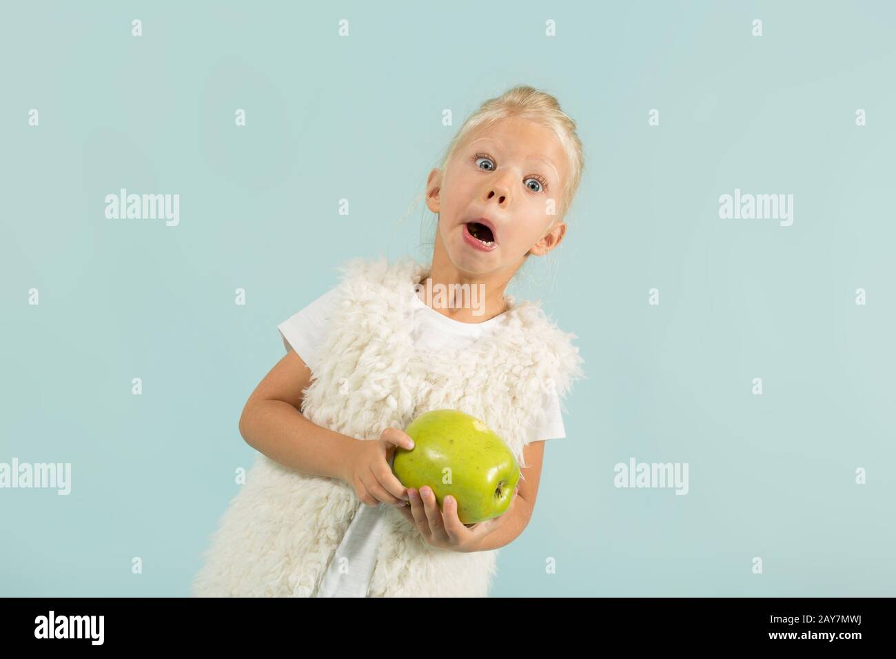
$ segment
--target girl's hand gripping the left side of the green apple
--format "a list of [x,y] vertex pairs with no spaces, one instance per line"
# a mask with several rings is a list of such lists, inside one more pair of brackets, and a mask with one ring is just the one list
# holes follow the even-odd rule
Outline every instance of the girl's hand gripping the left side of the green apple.
[[397,428],[387,428],[379,439],[359,440],[347,456],[343,480],[367,506],[376,507],[382,501],[404,507],[408,501],[408,490],[390,465],[396,447],[411,449],[414,441]]

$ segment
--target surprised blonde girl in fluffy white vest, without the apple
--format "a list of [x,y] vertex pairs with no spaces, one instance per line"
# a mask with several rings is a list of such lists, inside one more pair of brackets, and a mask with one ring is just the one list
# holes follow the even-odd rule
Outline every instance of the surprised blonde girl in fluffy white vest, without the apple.
[[[553,96],[487,100],[427,179],[431,264],[354,259],[279,325],[287,354],[239,422],[260,455],[194,595],[488,594],[497,549],[535,507],[544,440],[565,437],[560,399],[583,377],[575,334],[504,290],[564,238],[583,160]],[[440,507],[392,473],[396,447],[413,448],[402,429],[435,409],[485,421],[513,450],[521,480],[504,515],[463,525],[451,497]]]

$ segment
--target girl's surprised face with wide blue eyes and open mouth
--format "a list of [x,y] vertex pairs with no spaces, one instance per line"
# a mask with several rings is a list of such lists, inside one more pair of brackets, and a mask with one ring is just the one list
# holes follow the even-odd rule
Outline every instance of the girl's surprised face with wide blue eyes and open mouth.
[[563,147],[544,126],[509,117],[479,129],[444,173],[429,174],[426,205],[439,215],[436,249],[441,242],[452,264],[473,275],[513,274],[525,256],[547,254],[566,231],[554,214],[566,167]]

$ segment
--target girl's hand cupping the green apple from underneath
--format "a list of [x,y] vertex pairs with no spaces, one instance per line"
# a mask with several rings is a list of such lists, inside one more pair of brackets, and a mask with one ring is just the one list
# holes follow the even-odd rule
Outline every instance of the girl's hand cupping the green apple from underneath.
[[399,507],[399,512],[412,525],[417,526],[427,544],[452,551],[473,551],[473,547],[483,536],[492,533],[497,527],[504,524],[507,513],[513,509],[513,504],[516,503],[516,493],[519,490],[520,485],[517,483],[513,489],[510,507],[503,514],[478,524],[464,525],[461,522],[460,517],[457,516],[457,501],[450,494],[444,498],[444,512],[439,510],[435,493],[432,488],[427,486],[420,488],[419,492],[410,488],[408,490],[410,504]]

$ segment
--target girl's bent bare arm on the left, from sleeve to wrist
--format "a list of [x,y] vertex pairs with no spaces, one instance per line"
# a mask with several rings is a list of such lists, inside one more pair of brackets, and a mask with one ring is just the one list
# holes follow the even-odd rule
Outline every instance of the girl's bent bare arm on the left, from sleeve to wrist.
[[246,443],[297,472],[348,481],[344,467],[358,440],[322,428],[299,412],[311,370],[290,350],[255,387],[239,419]]

